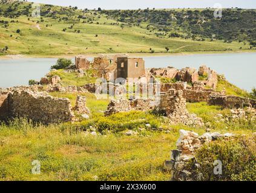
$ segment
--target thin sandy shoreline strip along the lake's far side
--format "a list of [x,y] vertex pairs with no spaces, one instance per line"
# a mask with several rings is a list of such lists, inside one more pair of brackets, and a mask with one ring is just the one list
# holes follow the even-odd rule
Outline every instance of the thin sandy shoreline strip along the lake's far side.
[[0,55],[0,60],[12,60],[12,59],[45,59],[45,58],[66,58],[72,59],[76,55],[85,55],[87,57],[96,57],[99,54],[128,54],[130,57],[159,57],[159,56],[182,56],[182,55],[206,55],[206,54],[243,54],[243,53],[256,53],[256,49],[252,50],[237,50],[237,51],[198,51],[198,52],[155,52],[155,53],[141,53],[141,52],[105,52],[105,53],[77,53],[77,54],[61,54],[61,55],[34,55],[34,54],[16,54],[16,55]]

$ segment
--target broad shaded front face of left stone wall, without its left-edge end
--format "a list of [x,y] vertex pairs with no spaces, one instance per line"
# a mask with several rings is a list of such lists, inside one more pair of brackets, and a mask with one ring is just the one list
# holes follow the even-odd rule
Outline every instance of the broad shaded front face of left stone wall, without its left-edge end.
[[67,98],[53,98],[45,92],[23,90],[8,95],[8,114],[43,124],[68,122],[74,117]]

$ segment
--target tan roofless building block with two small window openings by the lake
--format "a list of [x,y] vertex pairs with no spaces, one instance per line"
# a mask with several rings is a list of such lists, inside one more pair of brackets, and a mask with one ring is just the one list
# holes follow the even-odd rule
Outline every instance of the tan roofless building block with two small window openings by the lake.
[[117,78],[139,78],[146,74],[142,58],[117,58]]

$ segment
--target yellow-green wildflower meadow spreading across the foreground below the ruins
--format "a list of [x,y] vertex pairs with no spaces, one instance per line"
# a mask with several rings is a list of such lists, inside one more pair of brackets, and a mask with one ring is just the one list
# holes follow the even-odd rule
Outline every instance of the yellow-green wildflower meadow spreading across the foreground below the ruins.
[[[2,124],[0,126],[0,179],[169,180],[171,173],[163,168],[163,162],[168,159],[169,151],[176,148],[179,130],[194,130],[199,134],[205,133],[205,128],[169,125],[168,122],[151,113],[117,113],[105,118],[93,109],[103,110],[107,107],[107,103],[103,105],[103,102],[97,101],[96,104],[92,105],[92,100],[87,102],[93,115],[90,119],[82,122],[44,126],[34,125],[21,119],[10,122],[9,125]],[[204,104],[188,104],[188,108],[191,112],[199,115],[208,113],[207,116],[211,116],[211,112],[214,116],[215,113],[221,111],[219,107],[209,107]],[[163,131],[154,131],[149,128],[140,131],[139,128],[145,127],[143,124],[148,122],[152,125],[155,124],[154,126],[163,127]],[[90,126],[96,128],[97,133],[99,132],[97,136],[85,132],[91,130]],[[137,131],[138,134],[126,136],[123,131],[128,129]],[[218,127],[212,131],[223,133],[229,131],[251,135],[255,128],[254,130],[233,130],[232,127],[228,129]],[[228,148],[218,148],[216,152],[210,150],[210,153],[218,156],[224,155],[222,157],[225,164],[232,166],[230,169],[229,167],[225,168],[225,172],[228,172],[228,175],[235,174],[236,176],[232,177],[233,180],[249,179],[251,173],[248,173],[248,168],[253,166],[251,160],[255,153],[246,153],[249,150],[255,150],[255,147],[250,149],[251,146],[249,145],[248,148],[241,149],[242,144],[230,143]],[[212,150],[215,150],[214,145],[217,146],[217,144],[211,145]],[[220,147],[225,147],[224,142],[223,145],[220,144]],[[243,157],[242,160],[247,160],[246,164],[250,163],[246,168],[246,164],[238,162],[241,163],[242,167],[238,168],[241,171],[240,178],[238,178],[237,172],[233,171],[236,163],[233,159],[226,157],[226,152],[233,152],[234,148],[235,150],[243,150],[238,155]],[[206,156],[205,151],[202,154]],[[252,156],[248,157],[248,155]],[[31,162],[33,160],[39,160],[41,163],[40,175],[31,174],[31,168],[33,168]],[[206,174],[208,173],[206,172]],[[243,178],[245,175],[246,178]]]

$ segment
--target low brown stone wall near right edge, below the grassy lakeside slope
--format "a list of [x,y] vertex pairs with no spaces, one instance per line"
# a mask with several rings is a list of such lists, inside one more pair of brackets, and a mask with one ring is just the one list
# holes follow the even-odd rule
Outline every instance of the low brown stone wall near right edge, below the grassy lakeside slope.
[[211,95],[209,97],[210,105],[222,106],[228,109],[251,107],[251,100],[240,96]]

